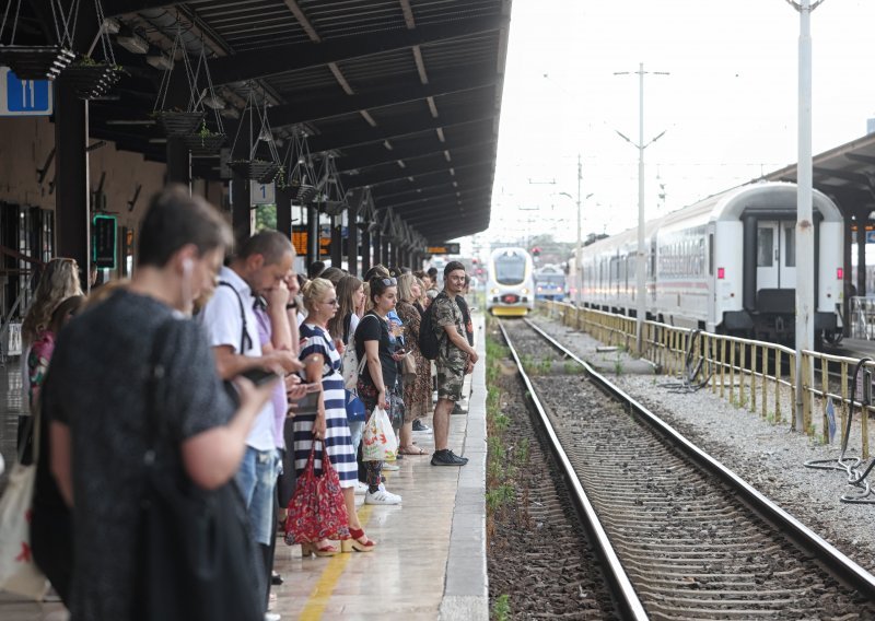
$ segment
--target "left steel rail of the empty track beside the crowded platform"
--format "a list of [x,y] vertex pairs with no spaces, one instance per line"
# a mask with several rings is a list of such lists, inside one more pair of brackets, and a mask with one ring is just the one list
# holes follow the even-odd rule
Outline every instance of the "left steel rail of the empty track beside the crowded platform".
[[638,594],[632,587],[629,576],[626,574],[626,570],[623,570],[617,553],[614,551],[610,539],[605,532],[605,529],[602,527],[602,523],[598,520],[598,515],[590,502],[590,497],[586,495],[583,485],[581,485],[580,479],[574,471],[565,450],[562,448],[558,436],[556,435],[553,425],[550,423],[547,412],[538,399],[535,386],[529,380],[528,375],[526,375],[526,372],[523,368],[523,362],[517,355],[508,331],[504,329],[504,325],[501,321],[499,321],[499,327],[501,328],[501,333],[504,336],[504,342],[508,343],[508,348],[511,350],[511,355],[513,356],[514,361],[516,362],[516,366],[520,370],[520,376],[523,378],[523,383],[526,386],[526,395],[538,412],[542,429],[549,440],[548,448],[562,469],[562,478],[565,480],[567,484],[572,491],[572,501],[578,508],[578,514],[581,516],[584,528],[586,528],[586,531],[590,535],[590,540],[593,543],[593,548],[602,561],[608,588],[610,589],[615,602],[619,608],[620,617],[622,619],[635,621],[649,619],[648,613],[644,611],[644,606],[641,604]]

